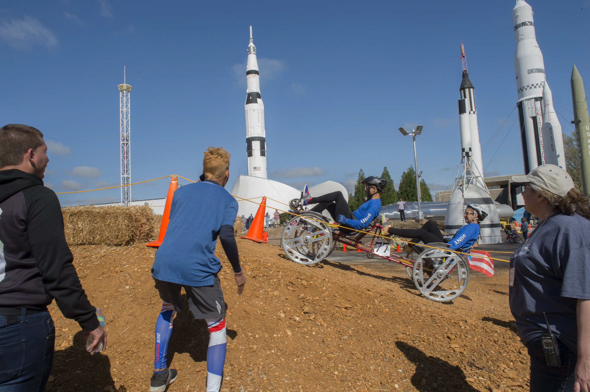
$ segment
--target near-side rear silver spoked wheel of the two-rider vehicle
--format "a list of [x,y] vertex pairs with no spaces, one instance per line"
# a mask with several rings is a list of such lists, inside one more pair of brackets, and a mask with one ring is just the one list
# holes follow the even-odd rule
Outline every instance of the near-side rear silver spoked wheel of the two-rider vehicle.
[[414,263],[412,279],[429,300],[451,301],[467,288],[469,267],[461,255],[451,250],[425,250]]

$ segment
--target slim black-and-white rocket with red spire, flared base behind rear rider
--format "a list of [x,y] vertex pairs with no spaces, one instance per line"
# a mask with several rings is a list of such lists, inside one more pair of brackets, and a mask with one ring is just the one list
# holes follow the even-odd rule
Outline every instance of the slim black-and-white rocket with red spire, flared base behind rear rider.
[[[455,234],[465,225],[463,214],[469,204],[479,204],[488,216],[480,224],[480,244],[496,244],[501,242],[500,218],[487,190],[483,179],[481,163],[481,145],[477,128],[477,110],[474,87],[467,73],[467,58],[461,44],[461,61],[463,62],[463,78],[459,87],[459,132],[461,135],[461,164],[455,179],[453,193],[447,205],[444,230]],[[507,207],[507,206],[504,206]],[[509,217],[512,217],[512,209]]]

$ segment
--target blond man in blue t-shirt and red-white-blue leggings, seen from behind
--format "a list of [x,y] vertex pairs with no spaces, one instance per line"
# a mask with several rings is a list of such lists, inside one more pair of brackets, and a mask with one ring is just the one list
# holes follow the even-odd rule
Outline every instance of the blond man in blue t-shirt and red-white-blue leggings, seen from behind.
[[183,308],[181,288],[188,296],[192,316],[205,320],[209,327],[207,392],[221,388],[227,337],[225,301],[217,276],[221,263],[215,257],[217,237],[234,270],[238,295],[246,282],[234,237],[238,202],[224,188],[230,178],[230,154],[221,147],[209,147],[204,154],[204,180],[174,192],[166,237],[152,267],[162,309],[156,321],[150,392],[163,392],[176,380],[176,369],[166,366],[166,353],[174,316]]

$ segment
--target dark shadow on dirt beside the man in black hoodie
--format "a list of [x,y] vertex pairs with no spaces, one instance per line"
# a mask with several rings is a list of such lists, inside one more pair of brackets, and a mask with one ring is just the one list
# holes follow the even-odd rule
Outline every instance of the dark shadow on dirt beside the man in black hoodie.
[[[67,333],[61,332],[61,336],[56,338],[56,345],[65,340],[65,334]],[[105,352],[91,356],[85,348],[86,341],[83,331],[78,331],[72,340],[71,346],[64,350],[55,351],[53,370],[51,371],[54,380],[47,383],[45,391],[94,391],[97,387],[100,390],[109,387],[113,391],[116,390],[114,386],[116,377],[111,377],[111,368],[115,368],[117,365],[111,363],[110,357]],[[132,390],[133,388],[120,386],[117,391]]]

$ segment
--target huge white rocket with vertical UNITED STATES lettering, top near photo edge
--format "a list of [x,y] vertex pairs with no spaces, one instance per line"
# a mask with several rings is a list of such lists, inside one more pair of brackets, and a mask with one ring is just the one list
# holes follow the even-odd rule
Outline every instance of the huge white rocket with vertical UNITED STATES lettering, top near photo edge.
[[546,84],[543,54],[535,36],[533,9],[524,0],[516,1],[512,22],[516,38],[514,71],[525,172],[529,173],[542,164],[565,169],[561,125]]

